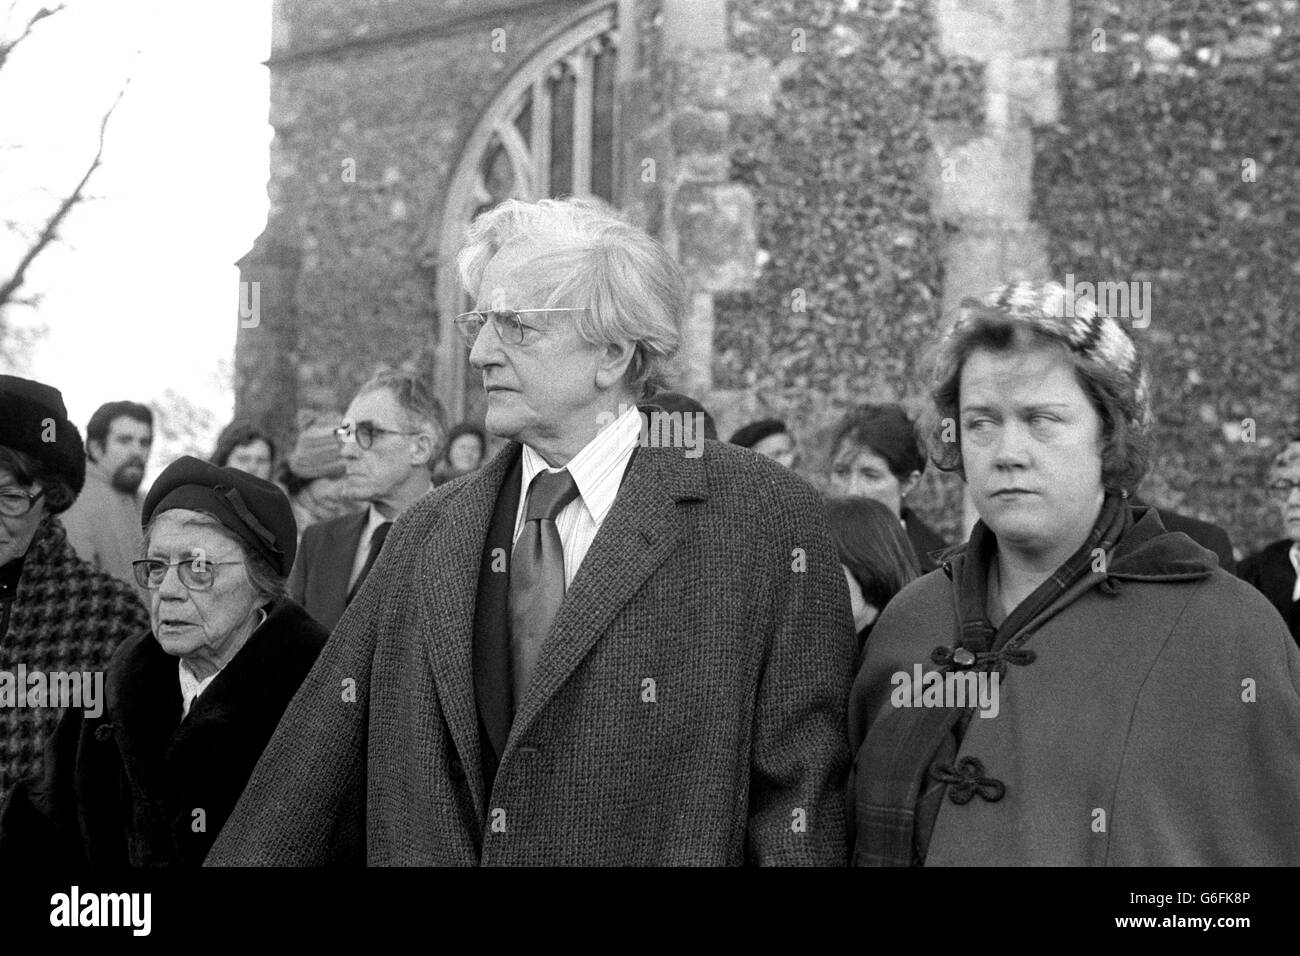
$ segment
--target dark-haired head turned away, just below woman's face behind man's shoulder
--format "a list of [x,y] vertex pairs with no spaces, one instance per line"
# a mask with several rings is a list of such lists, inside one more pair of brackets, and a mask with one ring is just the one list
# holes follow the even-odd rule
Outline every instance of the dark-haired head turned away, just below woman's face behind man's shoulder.
[[827,502],[831,535],[840,551],[849,585],[858,652],[866,646],[880,611],[920,571],[911,542],[893,511],[874,498],[832,498]]

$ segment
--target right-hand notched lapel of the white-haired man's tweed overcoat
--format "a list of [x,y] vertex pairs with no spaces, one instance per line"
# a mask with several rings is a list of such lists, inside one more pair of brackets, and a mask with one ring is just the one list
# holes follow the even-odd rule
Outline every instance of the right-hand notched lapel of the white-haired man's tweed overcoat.
[[595,646],[615,615],[672,554],[681,537],[679,502],[706,497],[702,458],[686,458],[682,449],[673,447],[637,449],[614,507],[564,596],[528,692],[517,705],[507,753]]

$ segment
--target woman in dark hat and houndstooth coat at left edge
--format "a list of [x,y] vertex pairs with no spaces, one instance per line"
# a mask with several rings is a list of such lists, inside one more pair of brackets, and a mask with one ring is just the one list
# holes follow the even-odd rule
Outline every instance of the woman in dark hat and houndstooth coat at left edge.
[[[103,671],[148,626],[126,583],[94,570],[57,515],[86,480],[86,451],[57,389],[0,376],[0,671]],[[13,688],[10,688],[12,691]],[[40,771],[57,706],[20,708],[0,688],[0,799]]]

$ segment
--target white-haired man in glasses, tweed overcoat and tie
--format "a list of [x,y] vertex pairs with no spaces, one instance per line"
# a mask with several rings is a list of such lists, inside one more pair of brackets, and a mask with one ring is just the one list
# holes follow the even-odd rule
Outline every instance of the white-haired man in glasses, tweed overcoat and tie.
[[459,265],[510,442],[398,520],[208,862],[842,865],[855,639],[820,499],[636,406],[680,269],[594,200],[508,200]]

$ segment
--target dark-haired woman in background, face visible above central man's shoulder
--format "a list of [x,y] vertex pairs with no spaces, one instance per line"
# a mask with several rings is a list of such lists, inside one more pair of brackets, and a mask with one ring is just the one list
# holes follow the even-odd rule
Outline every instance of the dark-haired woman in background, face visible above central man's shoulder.
[[933,555],[948,548],[904,502],[920,484],[926,457],[916,427],[897,405],[863,405],[850,411],[831,437],[829,486],[835,494],[875,498],[902,523],[922,574],[939,567]]

